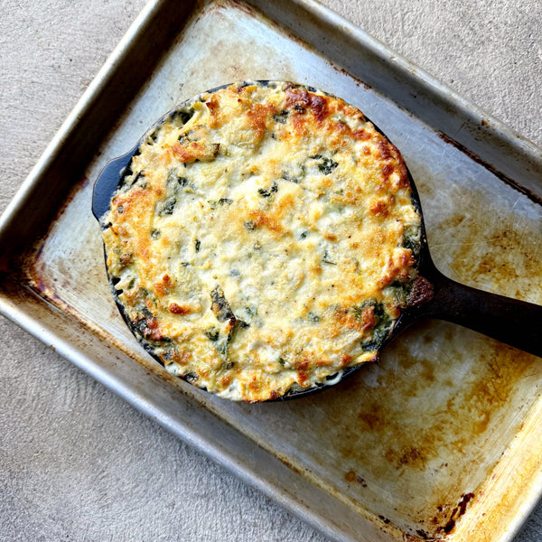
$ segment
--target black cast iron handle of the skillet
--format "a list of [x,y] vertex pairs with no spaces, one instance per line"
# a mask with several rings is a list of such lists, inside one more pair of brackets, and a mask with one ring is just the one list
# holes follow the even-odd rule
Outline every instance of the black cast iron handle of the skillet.
[[462,285],[431,265],[434,296],[420,316],[458,323],[475,332],[542,357],[542,306]]

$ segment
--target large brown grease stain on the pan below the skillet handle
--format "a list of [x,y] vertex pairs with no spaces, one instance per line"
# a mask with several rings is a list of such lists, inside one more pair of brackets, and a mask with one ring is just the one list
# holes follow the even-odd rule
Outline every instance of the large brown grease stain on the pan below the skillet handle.
[[445,322],[416,325],[378,365],[322,397],[333,423],[316,431],[342,465],[347,491],[337,490],[376,513],[389,499],[386,517],[425,519],[427,536],[446,532],[462,495],[518,430],[540,378],[534,356]]

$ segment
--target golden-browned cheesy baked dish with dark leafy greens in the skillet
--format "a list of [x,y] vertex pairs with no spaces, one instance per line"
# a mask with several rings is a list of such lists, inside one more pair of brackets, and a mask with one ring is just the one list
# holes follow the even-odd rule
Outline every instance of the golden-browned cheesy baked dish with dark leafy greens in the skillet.
[[356,107],[245,81],[141,140],[101,220],[126,322],[171,374],[264,401],[377,359],[416,279],[406,166]]

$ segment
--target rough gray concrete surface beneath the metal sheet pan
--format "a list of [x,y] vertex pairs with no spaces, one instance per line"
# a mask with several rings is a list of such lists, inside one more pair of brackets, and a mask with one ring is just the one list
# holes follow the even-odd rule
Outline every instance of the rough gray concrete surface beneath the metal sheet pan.
[[[540,0],[322,4],[542,145]],[[0,212],[144,5],[0,1]],[[324,541],[4,318],[0,345],[0,540]]]

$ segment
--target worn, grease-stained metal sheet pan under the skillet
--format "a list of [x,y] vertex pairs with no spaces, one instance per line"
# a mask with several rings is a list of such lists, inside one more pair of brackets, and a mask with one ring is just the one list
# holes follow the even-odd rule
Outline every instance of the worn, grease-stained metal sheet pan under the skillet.
[[542,304],[534,145],[320,5],[162,0],[5,211],[2,313],[333,539],[509,540],[542,487],[536,358],[423,322],[335,389],[250,406],[169,377],[127,332],[91,182],[166,110],[238,79],[291,79],[360,107],[406,158],[437,266]]

